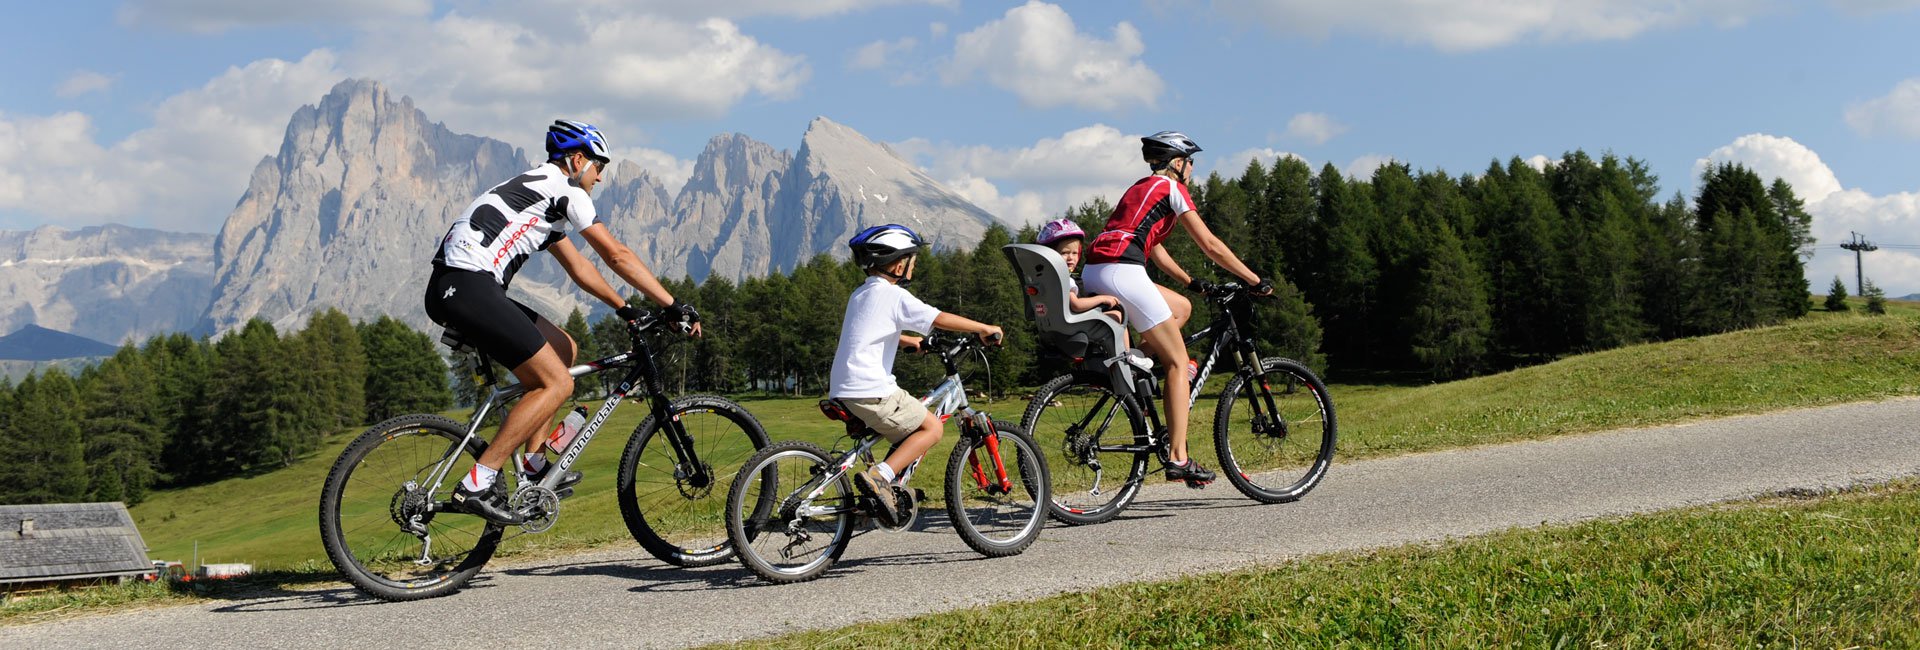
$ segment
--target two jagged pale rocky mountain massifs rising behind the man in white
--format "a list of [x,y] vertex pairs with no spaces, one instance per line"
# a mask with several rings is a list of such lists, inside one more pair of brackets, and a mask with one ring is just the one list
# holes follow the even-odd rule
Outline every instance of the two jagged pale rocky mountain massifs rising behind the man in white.
[[[338,307],[428,328],[420,291],[442,234],[474,196],[530,167],[522,151],[455,134],[378,82],[344,81],[294,113],[280,151],[255,167],[213,245],[200,326],[228,332],[267,318],[301,328]],[[887,146],[824,117],[799,153],[739,134],[712,138],[674,197],[639,165],[616,161],[593,203],[655,274],[693,280],[847,257],[843,242],[872,224],[904,222],[935,245],[968,247],[995,222]],[[589,251],[578,236],[574,245]],[[605,265],[601,274],[624,288]],[[534,255],[509,293],[555,320],[599,309],[551,255]]]

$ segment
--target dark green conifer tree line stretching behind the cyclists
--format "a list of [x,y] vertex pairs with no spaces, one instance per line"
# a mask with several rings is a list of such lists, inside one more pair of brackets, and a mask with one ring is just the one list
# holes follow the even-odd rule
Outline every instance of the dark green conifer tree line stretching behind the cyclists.
[[[1661,199],[1645,163],[1611,153],[1572,151],[1542,167],[1515,157],[1461,176],[1388,163],[1367,178],[1286,157],[1213,174],[1192,196],[1208,226],[1277,284],[1256,311],[1265,353],[1334,378],[1461,378],[1772,324],[1811,305],[1809,213],[1791,186],[1740,165],[1707,169],[1693,197]],[[1108,213],[1092,199],[1066,217],[1098,232]],[[922,255],[920,299],[1008,330],[968,385],[1010,393],[1068,364],[1037,349],[1000,251],[1031,240],[1031,226],[995,226],[972,247]],[[1196,276],[1229,280],[1190,238],[1167,242]],[[701,309],[707,332],[655,339],[668,387],[824,393],[847,297],[864,278],[849,261],[816,255],[743,282],[666,282]],[[1206,303],[1194,303],[1206,322]],[[576,311],[564,330],[580,362],[628,347],[612,314]],[[895,368],[910,389],[941,372],[920,357]],[[603,391],[584,380],[576,397]],[[0,435],[25,451],[17,472],[0,474],[0,502],[138,502],[152,487],[278,468],[328,431],[470,405],[474,393],[472,372],[455,370],[449,383],[436,341],[386,316],[353,324],[326,311],[290,336],[253,320],[217,343],[161,336],[79,376],[0,382]]]

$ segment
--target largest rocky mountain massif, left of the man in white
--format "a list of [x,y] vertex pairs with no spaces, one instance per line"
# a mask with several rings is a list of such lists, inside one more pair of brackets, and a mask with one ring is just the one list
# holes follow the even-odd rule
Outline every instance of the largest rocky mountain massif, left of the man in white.
[[407,98],[346,81],[294,113],[215,242],[205,326],[301,328],[338,307],[426,324],[434,244],[472,197],[526,171],[505,142],[430,123]]

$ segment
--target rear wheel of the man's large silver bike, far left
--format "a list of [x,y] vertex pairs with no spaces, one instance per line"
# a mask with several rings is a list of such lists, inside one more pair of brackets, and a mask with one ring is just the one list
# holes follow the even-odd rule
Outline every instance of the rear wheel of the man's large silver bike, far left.
[[[430,414],[374,424],[353,439],[321,489],[321,545],[359,591],[419,600],[467,585],[499,545],[501,527],[457,512],[432,512],[486,449],[453,420]],[[438,485],[430,474],[457,458]],[[409,531],[411,529],[411,531]]]

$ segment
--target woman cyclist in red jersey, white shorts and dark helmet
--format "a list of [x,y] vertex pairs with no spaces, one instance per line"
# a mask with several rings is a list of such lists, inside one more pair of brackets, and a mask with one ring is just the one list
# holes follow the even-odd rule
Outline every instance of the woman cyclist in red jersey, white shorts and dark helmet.
[[1244,280],[1256,295],[1273,293],[1273,284],[1254,274],[1233,255],[1225,242],[1208,230],[1194,211],[1194,201],[1187,194],[1192,182],[1194,159],[1200,146],[1185,134],[1162,130],[1140,138],[1140,157],[1152,174],[1140,178],[1121,194],[1119,203],[1106,221],[1104,232],[1087,247],[1087,270],[1081,274],[1087,290],[1119,299],[1127,311],[1127,322],[1140,332],[1140,345],[1165,364],[1165,405],[1169,451],[1165,462],[1167,481],[1185,481],[1187,487],[1204,487],[1213,481],[1213,470],[1187,456],[1187,339],[1181,328],[1192,316],[1192,303],[1185,295],[1154,284],[1146,276],[1146,261],[1152,259],[1160,270],[1196,293],[1208,290],[1208,282],[1187,274],[1173,261],[1173,255],[1160,245],[1173,224],[1179,222],[1200,251],[1221,268]]

